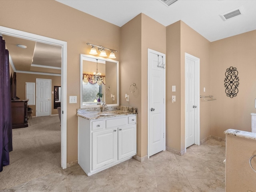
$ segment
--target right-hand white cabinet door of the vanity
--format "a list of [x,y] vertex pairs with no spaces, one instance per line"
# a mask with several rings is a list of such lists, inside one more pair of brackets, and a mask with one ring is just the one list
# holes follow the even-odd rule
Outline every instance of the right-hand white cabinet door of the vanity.
[[136,124],[118,128],[118,160],[136,155]]

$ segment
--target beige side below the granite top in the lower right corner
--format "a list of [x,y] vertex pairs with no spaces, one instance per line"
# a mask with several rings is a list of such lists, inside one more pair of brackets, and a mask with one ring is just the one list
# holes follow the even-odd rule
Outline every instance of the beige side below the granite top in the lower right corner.
[[[226,192],[256,191],[256,173],[249,164],[255,154],[256,140],[226,135]],[[256,157],[252,167],[256,169]]]

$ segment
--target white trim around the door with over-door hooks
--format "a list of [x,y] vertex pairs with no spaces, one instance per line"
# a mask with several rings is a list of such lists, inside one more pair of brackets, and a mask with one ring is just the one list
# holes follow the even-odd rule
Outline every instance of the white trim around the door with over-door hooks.
[[[149,53],[154,53],[154,54],[157,54],[157,55],[160,55],[160,56],[163,56],[163,60],[164,60],[164,63],[166,64],[166,55],[161,53],[161,52],[158,52],[158,51],[155,51],[155,50],[152,50],[152,49],[149,49],[148,48],[148,158],[149,158],[149,107],[150,107],[150,103],[149,103],[149,89],[150,89],[150,84],[149,84]],[[166,66],[166,65],[165,65]],[[164,133],[164,146],[163,146],[163,150],[165,151],[166,150],[166,70],[164,68],[164,130],[163,130],[163,133]]]

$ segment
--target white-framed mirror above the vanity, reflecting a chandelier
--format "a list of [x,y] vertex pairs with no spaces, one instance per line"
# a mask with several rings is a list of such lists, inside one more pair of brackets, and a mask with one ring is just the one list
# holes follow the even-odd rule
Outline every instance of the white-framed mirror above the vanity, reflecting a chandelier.
[[118,61],[80,54],[80,107],[119,105]]

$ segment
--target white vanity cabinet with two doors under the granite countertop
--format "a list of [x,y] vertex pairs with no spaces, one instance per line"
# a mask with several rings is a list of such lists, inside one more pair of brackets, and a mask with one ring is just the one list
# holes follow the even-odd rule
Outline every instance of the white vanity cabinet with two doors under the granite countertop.
[[78,164],[90,176],[136,155],[136,114],[78,117]]

